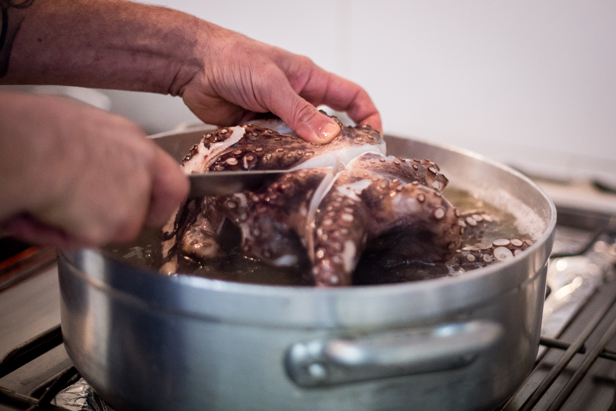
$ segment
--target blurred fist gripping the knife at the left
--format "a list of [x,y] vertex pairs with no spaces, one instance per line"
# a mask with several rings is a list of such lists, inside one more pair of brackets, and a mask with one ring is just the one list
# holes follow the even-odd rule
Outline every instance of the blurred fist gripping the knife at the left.
[[0,94],[0,225],[59,247],[130,241],[188,193],[136,125],[52,96]]

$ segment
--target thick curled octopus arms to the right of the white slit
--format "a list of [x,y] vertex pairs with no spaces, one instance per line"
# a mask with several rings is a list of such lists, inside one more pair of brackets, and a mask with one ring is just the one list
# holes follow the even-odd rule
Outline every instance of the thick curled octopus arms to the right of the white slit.
[[388,245],[402,261],[445,261],[461,247],[456,209],[441,195],[446,183],[431,162],[374,153],[351,161],[314,220],[316,285],[350,285],[366,245],[392,232],[404,233]]

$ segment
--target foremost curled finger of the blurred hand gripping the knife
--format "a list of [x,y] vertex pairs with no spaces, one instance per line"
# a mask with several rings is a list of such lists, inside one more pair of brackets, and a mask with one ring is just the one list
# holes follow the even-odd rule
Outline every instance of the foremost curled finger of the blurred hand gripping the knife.
[[153,227],[164,225],[188,196],[188,178],[181,172],[179,165],[160,148],[155,152],[151,191],[145,224]]

